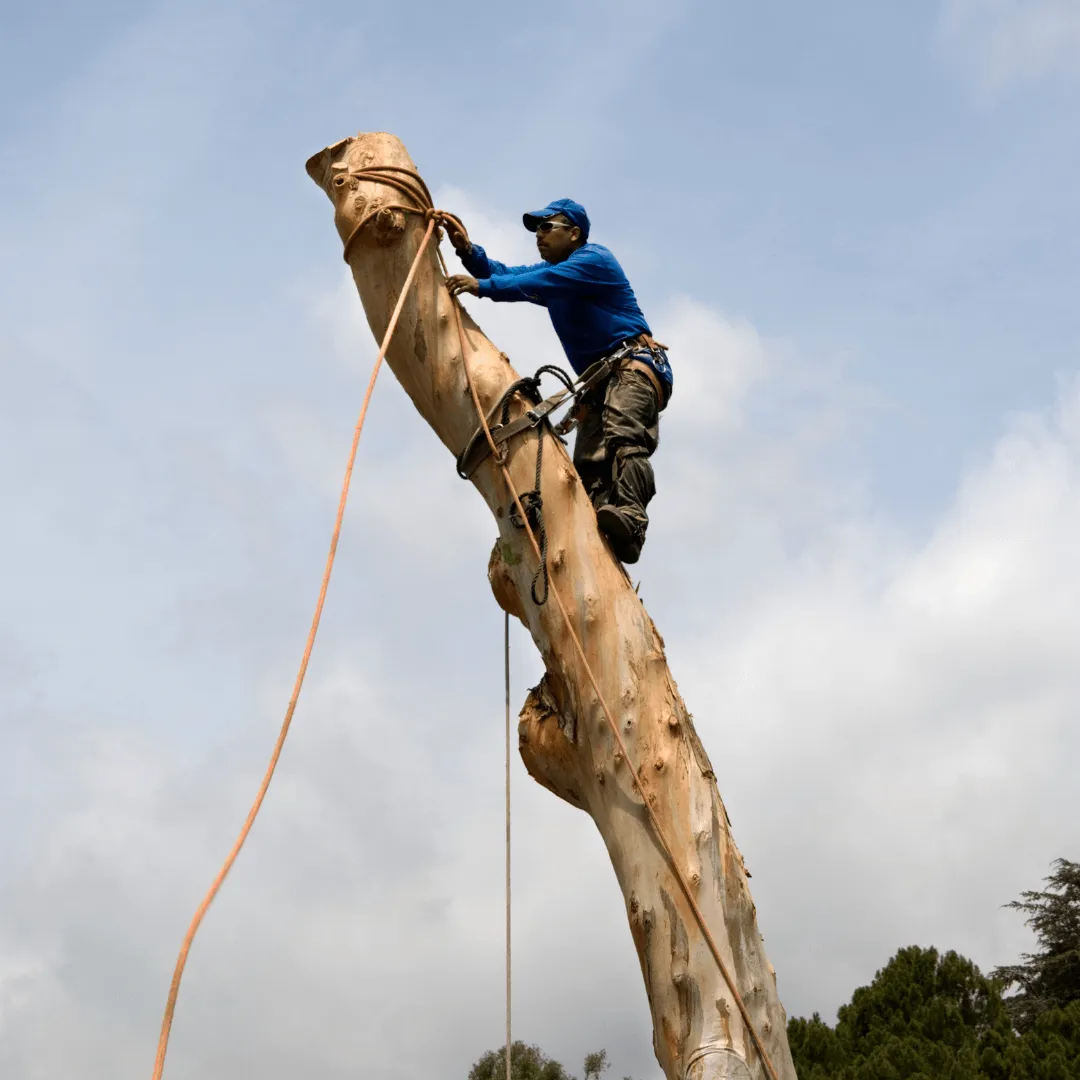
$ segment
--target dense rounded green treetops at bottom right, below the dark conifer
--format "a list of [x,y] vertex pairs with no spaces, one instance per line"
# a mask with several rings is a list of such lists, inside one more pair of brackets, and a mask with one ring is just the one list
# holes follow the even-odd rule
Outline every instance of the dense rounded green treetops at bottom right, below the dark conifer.
[[956,953],[901,949],[835,1028],[794,1018],[799,1080],[1080,1080],[1080,1003],[1013,1030],[999,985]]

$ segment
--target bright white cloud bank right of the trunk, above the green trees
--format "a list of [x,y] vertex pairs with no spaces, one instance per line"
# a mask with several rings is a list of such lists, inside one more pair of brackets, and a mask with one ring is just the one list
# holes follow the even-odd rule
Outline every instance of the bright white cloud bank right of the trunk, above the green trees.
[[998,905],[1076,856],[1078,416],[1070,379],[1010,418],[922,538],[849,512],[755,559],[759,526],[714,518],[737,569],[652,585],[713,616],[669,644],[788,1008],[831,1011],[905,943],[1005,962],[1029,936]]

